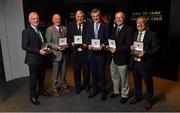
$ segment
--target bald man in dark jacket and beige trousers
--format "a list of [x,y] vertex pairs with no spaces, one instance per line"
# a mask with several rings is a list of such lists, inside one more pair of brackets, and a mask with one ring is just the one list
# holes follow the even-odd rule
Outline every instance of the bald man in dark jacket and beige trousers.
[[[129,97],[128,64],[130,48],[133,39],[133,29],[125,25],[125,14],[115,14],[116,27],[112,29],[111,38],[116,42],[116,48],[111,48],[112,61],[110,64],[113,93],[110,98],[121,95],[120,103],[124,104]],[[120,90],[121,89],[121,90]]]

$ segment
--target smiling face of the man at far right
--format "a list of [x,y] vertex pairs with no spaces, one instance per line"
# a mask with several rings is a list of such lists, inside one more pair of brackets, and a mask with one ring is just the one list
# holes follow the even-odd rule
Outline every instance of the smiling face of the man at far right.
[[146,23],[143,18],[137,19],[136,27],[137,27],[138,31],[144,31],[146,29]]

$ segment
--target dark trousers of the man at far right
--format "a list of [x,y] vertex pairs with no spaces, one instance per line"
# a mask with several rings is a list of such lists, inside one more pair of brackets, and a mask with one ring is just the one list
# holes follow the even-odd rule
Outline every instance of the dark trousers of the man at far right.
[[133,78],[135,83],[136,96],[142,96],[142,79],[146,86],[146,100],[151,101],[153,97],[153,79],[151,65],[135,62],[133,68]]

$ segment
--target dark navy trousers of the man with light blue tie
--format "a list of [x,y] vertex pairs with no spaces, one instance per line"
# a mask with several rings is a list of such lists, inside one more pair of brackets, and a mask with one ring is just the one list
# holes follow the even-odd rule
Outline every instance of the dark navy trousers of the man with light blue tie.
[[106,95],[105,57],[94,54],[89,62],[92,71],[93,91],[97,93],[100,88],[101,93]]

